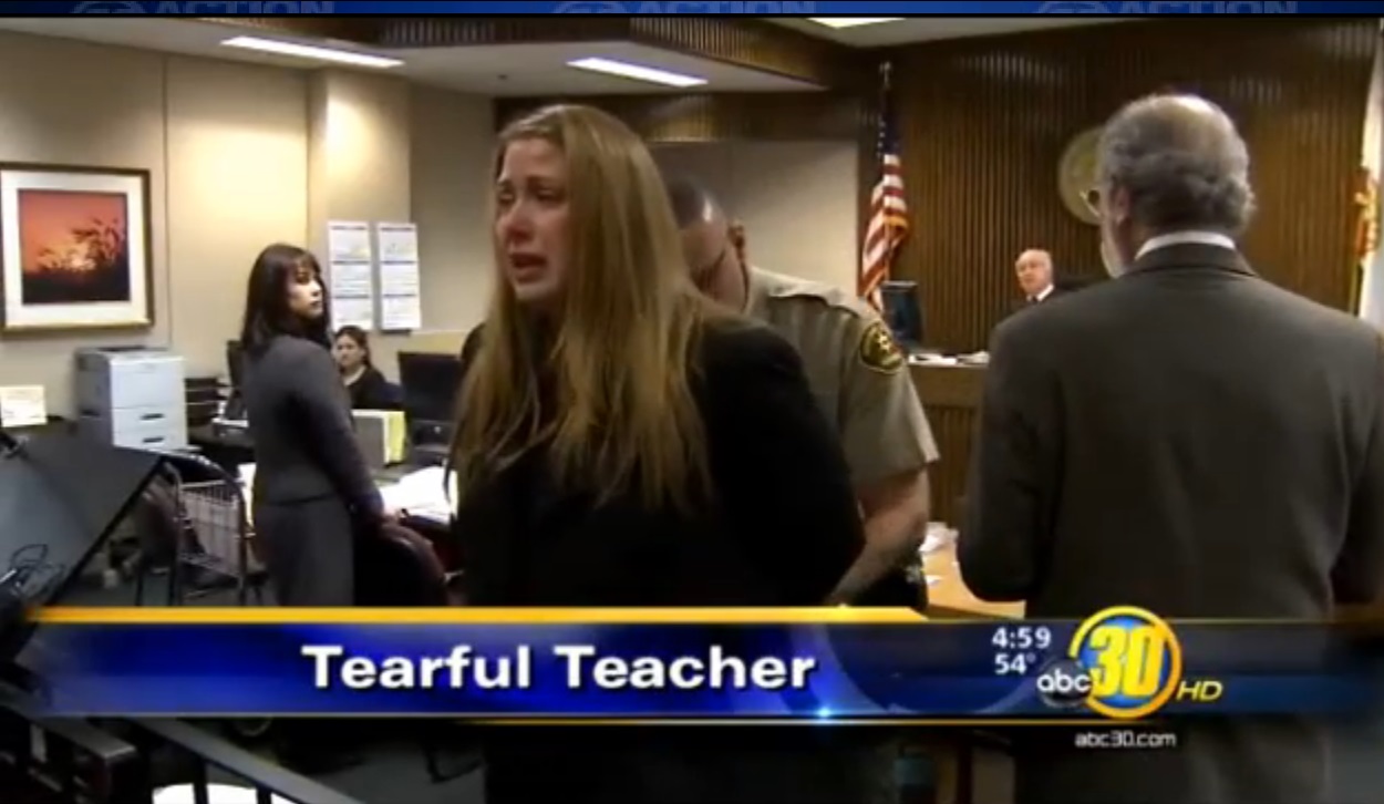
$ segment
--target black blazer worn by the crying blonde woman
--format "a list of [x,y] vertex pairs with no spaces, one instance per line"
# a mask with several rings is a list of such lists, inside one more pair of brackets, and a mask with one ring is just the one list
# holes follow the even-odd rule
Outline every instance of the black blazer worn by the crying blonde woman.
[[[468,338],[464,368],[477,346]],[[709,328],[693,381],[718,502],[594,506],[547,482],[541,453],[466,494],[457,540],[480,606],[817,606],[864,544],[850,470],[793,347],[752,324]],[[462,415],[465,412],[462,411]],[[487,801],[853,801],[839,746],[702,729],[487,738]],[[696,733],[700,732],[700,733]],[[745,732],[756,732],[745,735]],[[634,739],[631,739],[634,738]]]

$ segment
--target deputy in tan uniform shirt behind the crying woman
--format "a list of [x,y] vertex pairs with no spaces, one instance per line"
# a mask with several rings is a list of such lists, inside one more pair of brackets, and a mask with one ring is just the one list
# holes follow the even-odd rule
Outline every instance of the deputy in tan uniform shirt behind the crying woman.
[[880,317],[858,299],[821,282],[750,266],[743,228],[727,219],[706,188],[673,180],[668,195],[693,281],[797,347],[817,401],[840,433],[865,516],[866,548],[830,602],[898,605],[866,591],[901,587],[880,581],[901,581],[905,562],[922,542],[929,515],[927,465],[937,459],[907,357]]

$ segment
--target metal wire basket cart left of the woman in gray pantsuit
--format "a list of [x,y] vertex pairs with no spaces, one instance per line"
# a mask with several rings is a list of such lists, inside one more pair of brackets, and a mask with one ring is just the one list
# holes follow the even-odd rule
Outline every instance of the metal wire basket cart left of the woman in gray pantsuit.
[[[208,595],[234,584],[237,603],[263,602],[264,565],[255,555],[255,531],[241,482],[219,465],[191,453],[167,453],[161,477],[170,491],[165,533],[174,544],[169,555],[169,605]],[[136,581],[143,605],[144,578]]]

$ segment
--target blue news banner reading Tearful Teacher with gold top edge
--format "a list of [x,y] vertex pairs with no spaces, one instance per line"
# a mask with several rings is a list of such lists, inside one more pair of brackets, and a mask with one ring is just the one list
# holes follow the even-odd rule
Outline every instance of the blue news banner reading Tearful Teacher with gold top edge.
[[68,715],[1050,724],[1344,714],[1378,639],[1326,627],[927,621],[905,609],[46,609]]

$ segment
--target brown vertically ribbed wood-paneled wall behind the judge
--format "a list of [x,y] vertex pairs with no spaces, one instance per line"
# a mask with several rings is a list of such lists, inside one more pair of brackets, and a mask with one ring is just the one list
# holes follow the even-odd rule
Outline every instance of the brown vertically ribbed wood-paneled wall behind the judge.
[[1244,249],[1271,281],[1345,307],[1374,19],[1100,25],[902,48],[895,64],[913,230],[895,278],[919,282],[927,340],[983,349],[1017,300],[1013,262],[1048,248],[1099,274],[1099,234],[1057,197],[1077,133],[1178,89],[1222,104],[1250,144],[1259,213]]

